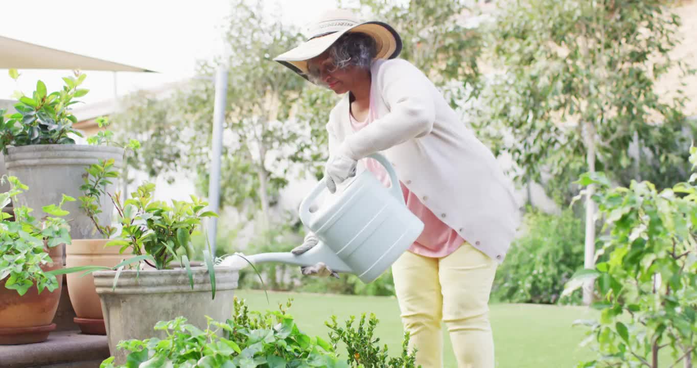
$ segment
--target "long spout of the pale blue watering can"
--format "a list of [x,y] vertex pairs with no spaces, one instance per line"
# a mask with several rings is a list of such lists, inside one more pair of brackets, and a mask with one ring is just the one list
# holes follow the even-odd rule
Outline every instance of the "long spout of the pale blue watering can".
[[301,267],[314,266],[319,262],[323,262],[328,268],[337,273],[352,273],[351,268],[346,266],[346,263],[339,259],[339,256],[321,241],[303,254],[296,255],[291,252],[259,253],[250,256],[233,254],[223,261],[223,265],[244,268],[249,263],[265,262],[287,263]]

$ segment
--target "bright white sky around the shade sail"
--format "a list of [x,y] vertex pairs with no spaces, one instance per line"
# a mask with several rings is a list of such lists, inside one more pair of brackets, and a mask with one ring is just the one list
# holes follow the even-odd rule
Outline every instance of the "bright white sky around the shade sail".
[[[300,26],[333,0],[273,0],[283,19]],[[0,4],[0,35],[107,59],[160,73],[118,72],[119,95],[174,82],[194,73],[197,59],[220,53],[228,0],[21,0]],[[70,70],[20,70],[19,85],[0,69],[0,99],[33,91],[37,79],[49,91],[61,87]],[[114,73],[86,71],[89,103],[114,96]]]

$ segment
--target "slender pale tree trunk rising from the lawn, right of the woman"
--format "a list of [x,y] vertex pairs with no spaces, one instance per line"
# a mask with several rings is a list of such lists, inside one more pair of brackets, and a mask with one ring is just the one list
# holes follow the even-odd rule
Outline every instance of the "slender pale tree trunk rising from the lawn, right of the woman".
[[[585,161],[588,164],[588,172],[595,173],[595,131],[592,128],[592,123],[585,123]],[[595,203],[593,203],[593,194],[595,193],[595,185],[588,185],[585,193],[585,257],[583,261],[584,268],[595,268]],[[588,279],[583,284],[583,304],[590,305],[593,301],[593,285],[595,279]]]

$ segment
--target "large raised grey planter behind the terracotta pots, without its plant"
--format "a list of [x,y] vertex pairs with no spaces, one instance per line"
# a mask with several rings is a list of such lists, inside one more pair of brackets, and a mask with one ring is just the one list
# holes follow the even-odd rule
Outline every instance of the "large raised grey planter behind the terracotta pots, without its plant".
[[[63,194],[77,199],[82,196],[80,185],[84,183],[85,168],[99,160],[114,159],[114,169],[121,169],[123,148],[107,146],[87,146],[78,144],[38,144],[33,146],[9,147],[5,155],[5,165],[10,176],[17,176],[29,190],[17,195],[18,204],[33,208],[36,217],[43,217],[41,210],[49,204],[59,204]],[[115,185],[107,186],[107,192],[114,192]],[[114,205],[108,196],[100,198],[102,213],[98,216],[100,224],[110,224]],[[69,202],[63,208],[70,212],[70,238],[95,239],[94,224],[79,208],[79,201]]]

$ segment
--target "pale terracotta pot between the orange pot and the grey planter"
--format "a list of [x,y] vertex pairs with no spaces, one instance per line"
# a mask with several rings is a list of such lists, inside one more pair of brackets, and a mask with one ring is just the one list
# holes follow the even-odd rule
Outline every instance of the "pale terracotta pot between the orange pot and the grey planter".
[[[66,267],[105,266],[114,267],[130,252],[119,254],[119,247],[106,247],[109,239],[75,239],[66,245]],[[82,273],[70,273],[68,279],[68,295],[70,304],[75,309],[75,323],[84,334],[107,335],[102,316],[102,302],[94,286],[92,274],[82,276]]]

